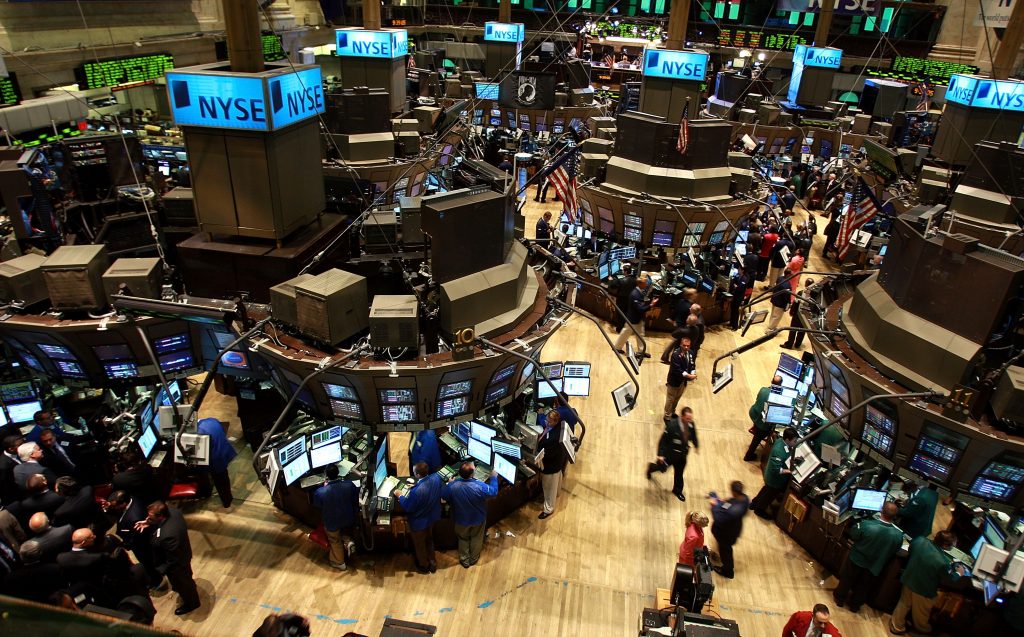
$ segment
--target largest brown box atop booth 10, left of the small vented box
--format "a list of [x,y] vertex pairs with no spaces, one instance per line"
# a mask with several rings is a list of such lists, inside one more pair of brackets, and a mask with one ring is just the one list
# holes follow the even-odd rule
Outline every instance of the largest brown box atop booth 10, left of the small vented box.
[[332,268],[295,286],[299,330],[331,345],[355,335],[368,321],[367,279]]

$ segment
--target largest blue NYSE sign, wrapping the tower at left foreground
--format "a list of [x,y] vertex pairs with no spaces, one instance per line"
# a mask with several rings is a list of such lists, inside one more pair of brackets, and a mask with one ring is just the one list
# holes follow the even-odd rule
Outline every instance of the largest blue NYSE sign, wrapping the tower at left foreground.
[[167,87],[178,126],[269,131],[324,113],[319,67],[255,77],[173,72]]

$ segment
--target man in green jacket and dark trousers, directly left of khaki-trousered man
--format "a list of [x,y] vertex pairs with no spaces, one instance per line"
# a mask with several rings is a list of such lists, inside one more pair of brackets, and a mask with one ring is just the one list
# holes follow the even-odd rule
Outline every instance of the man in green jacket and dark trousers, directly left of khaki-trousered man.
[[850,529],[853,549],[833,597],[840,606],[849,605],[851,612],[860,610],[860,604],[874,588],[874,579],[903,544],[903,533],[893,525],[898,512],[895,502],[887,502],[882,507],[882,519],[866,519]]

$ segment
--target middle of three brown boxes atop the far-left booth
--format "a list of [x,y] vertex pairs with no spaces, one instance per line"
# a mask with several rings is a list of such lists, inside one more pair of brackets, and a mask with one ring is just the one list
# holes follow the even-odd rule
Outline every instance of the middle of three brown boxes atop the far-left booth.
[[106,306],[103,272],[110,267],[104,246],[61,246],[43,263],[43,281],[56,309]]

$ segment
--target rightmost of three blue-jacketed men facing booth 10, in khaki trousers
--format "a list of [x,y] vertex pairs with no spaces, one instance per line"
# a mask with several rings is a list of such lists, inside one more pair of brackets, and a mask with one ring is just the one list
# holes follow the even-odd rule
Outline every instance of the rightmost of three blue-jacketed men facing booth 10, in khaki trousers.
[[459,477],[441,489],[441,498],[452,504],[452,521],[459,538],[459,563],[469,568],[480,559],[483,535],[487,527],[487,498],[498,495],[498,474],[486,482],[473,478],[476,465],[462,463]]

